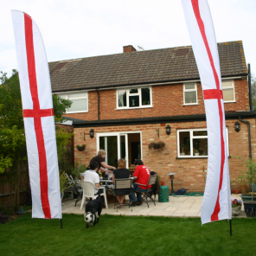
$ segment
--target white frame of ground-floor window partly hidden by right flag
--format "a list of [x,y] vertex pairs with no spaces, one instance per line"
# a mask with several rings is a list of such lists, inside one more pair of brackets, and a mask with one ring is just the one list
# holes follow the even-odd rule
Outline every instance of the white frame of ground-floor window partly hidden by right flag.
[[[190,138],[190,155],[182,156],[180,153],[180,136],[179,133],[182,131],[189,131],[189,138]],[[178,158],[207,158],[208,156],[193,156],[193,138],[208,138],[208,135],[205,136],[193,136],[193,131],[207,131],[207,128],[201,129],[182,129],[177,130],[177,157]],[[229,157],[229,145],[228,145],[228,127],[226,127],[226,138],[227,138],[227,156]],[[192,147],[191,147],[192,146]]]

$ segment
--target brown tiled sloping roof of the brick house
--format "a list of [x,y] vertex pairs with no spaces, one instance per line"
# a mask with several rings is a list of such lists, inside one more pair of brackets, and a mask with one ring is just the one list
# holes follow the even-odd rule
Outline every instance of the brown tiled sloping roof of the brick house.
[[[218,43],[221,76],[247,74],[241,41]],[[53,93],[198,80],[191,46],[49,62]]]

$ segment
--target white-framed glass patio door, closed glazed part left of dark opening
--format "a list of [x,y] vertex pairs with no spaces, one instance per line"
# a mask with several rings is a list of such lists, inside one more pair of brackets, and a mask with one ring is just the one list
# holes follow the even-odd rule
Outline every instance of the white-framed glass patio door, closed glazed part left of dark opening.
[[118,159],[124,158],[126,161],[126,168],[128,168],[128,138],[125,133],[98,133],[97,137],[97,151],[106,150],[105,162],[108,165],[118,167]]

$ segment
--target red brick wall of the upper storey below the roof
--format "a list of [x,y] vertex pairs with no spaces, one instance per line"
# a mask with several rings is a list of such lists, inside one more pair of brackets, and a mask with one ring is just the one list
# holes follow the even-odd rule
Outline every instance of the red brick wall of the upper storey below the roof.
[[[225,103],[225,111],[248,111],[249,98],[247,80],[234,80],[234,103]],[[152,108],[116,110],[116,90],[99,91],[100,95],[100,119],[118,118],[146,118],[161,116],[203,114],[204,103],[202,98],[202,86],[197,84],[198,105],[183,106],[182,84],[169,86],[152,86]],[[98,94],[88,93],[88,112],[67,114],[71,118],[84,120],[98,119]]]

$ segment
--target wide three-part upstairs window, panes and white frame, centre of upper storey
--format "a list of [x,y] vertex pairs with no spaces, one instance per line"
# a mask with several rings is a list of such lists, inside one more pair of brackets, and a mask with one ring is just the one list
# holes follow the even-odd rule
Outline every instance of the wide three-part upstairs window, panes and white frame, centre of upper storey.
[[151,87],[117,90],[117,108],[144,108],[152,106]]

